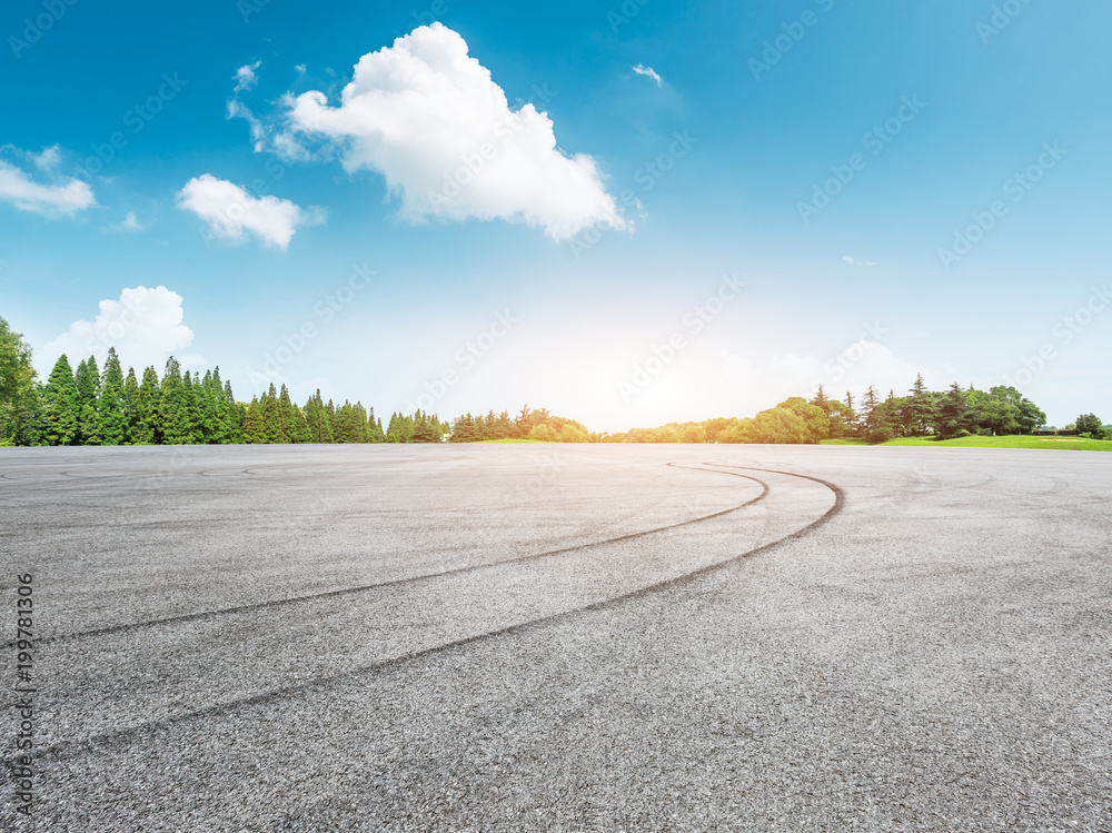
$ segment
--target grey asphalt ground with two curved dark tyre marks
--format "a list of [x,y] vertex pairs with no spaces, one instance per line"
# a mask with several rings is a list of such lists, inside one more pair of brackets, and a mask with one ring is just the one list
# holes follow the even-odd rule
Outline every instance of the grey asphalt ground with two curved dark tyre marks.
[[1112,455],[0,449],[0,509],[2,831],[1112,831]]

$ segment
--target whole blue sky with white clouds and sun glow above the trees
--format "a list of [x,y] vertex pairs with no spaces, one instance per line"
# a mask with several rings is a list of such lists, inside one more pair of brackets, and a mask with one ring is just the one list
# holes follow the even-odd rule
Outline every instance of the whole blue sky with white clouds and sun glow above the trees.
[[116,344],[379,414],[922,371],[1108,420],[1112,9],[747,6],[10,2],[0,315],[40,373]]

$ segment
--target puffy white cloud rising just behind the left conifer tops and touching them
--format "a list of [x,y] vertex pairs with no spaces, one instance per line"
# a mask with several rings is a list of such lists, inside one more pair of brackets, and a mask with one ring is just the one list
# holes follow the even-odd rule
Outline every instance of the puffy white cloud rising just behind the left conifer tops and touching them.
[[193,331],[181,323],[182,317],[180,295],[165,286],[137,286],[123,289],[116,300],[100,301],[92,321],[73,321],[69,330],[36,353],[50,363],[64,353],[75,365],[92,355],[103,366],[108,348],[115,347],[125,371],[135,367],[139,373],[153,365],[161,373],[171,354],[183,365],[199,359],[178,355],[193,340]]

